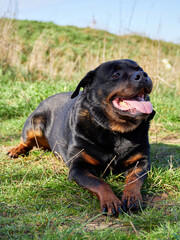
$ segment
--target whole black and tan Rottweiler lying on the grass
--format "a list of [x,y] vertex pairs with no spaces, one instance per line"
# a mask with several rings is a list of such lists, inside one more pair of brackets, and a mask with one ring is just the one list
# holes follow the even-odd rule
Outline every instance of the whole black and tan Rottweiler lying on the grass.
[[[98,197],[102,212],[117,215],[121,209],[138,209],[150,168],[148,129],[155,114],[151,90],[151,79],[136,62],[103,63],[88,72],[73,93],[40,103],[25,122],[21,143],[8,154],[15,158],[34,146],[52,150],[69,167],[70,179]],[[121,201],[98,178],[109,167],[114,173],[125,172]]]

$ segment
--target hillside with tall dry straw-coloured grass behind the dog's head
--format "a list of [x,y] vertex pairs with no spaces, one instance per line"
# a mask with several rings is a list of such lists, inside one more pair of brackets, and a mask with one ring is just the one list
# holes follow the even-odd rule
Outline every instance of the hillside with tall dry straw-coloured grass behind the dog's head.
[[[71,79],[76,73],[84,74],[104,61],[120,58],[137,61],[154,81],[159,76],[176,84],[173,73],[180,71],[180,46],[172,43],[51,22],[0,19],[0,30],[0,60],[19,72],[35,71],[39,77]],[[163,59],[170,63],[170,69]]]

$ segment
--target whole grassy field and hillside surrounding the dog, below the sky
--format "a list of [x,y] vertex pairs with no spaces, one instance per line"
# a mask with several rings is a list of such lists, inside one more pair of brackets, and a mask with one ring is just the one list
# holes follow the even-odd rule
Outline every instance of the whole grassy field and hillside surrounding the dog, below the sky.
[[[73,90],[108,60],[137,61],[153,80],[152,169],[145,208],[102,216],[95,197],[68,180],[52,153],[9,159],[23,123],[50,95]],[[180,239],[180,46],[90,28],[0,19],[0,239]],[[106,181],[122,195],[124,178]]]

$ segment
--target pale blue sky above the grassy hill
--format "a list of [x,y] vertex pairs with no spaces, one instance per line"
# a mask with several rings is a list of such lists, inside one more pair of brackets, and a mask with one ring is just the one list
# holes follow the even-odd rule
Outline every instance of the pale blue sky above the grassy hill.
[[14,15],[180,43],[180,0],[0,0],[0,16]]

